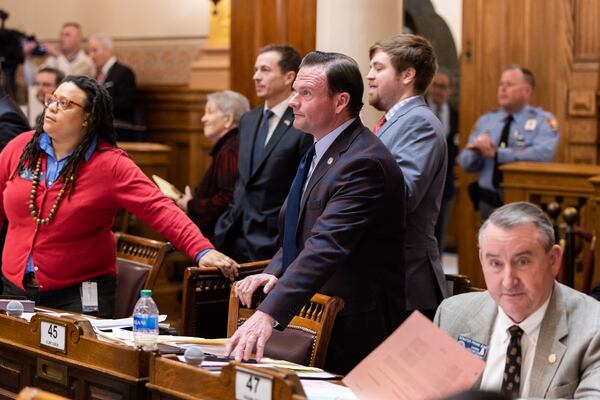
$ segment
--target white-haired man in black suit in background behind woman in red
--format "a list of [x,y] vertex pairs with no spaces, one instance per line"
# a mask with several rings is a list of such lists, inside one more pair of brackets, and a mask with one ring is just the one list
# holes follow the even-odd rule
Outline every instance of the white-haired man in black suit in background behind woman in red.
[[88,40],[89,56],[96,64],[96,80],[103,85],[113,101],[115,131],[118,141],[138,141],[135,124],[135,75],[131,68],[117,61],[110,36],[92,35]]

